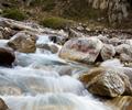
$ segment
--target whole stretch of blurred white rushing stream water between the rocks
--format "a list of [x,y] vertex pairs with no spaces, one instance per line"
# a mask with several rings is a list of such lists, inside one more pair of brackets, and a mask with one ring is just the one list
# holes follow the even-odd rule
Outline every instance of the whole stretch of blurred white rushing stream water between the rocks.
[[[47,35],[37,40],[43,43],[51,43]],[[34,54],[15,55],[13,68],[0,67],[0,96],[11,110],[109,110],[74,77],[87,67],[38,48]],[[62,73],[66,67],[72,68],[70,75]]]

